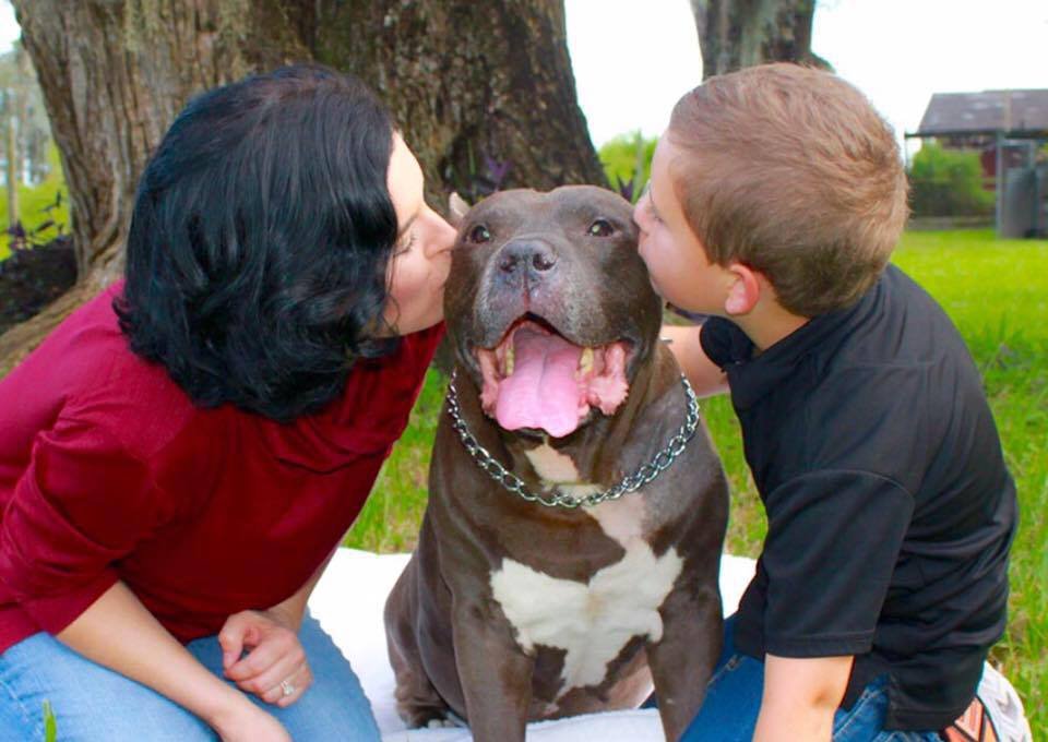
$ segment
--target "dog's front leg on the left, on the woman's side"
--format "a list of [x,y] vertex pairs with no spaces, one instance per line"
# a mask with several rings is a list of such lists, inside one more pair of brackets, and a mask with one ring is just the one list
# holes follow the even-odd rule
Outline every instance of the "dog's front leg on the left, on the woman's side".
[[455,663],[476,742],[524,742],[533,657],[516,645],[501,612],[455,606]]

